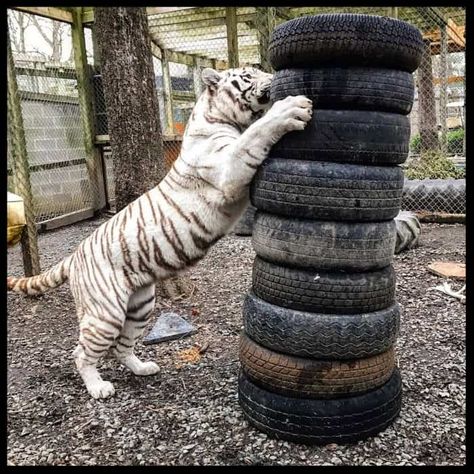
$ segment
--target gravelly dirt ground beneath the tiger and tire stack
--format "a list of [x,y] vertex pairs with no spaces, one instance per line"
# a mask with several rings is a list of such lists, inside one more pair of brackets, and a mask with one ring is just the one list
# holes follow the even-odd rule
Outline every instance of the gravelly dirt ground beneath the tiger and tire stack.
[[[104,221],[41,234],[42,268]],[[383,433],[355,445],[296,445],[245,421],[237,400],[238,338],[254,256],[249,237],[221,240],[191,271],[194,294],[162,306],[185,316],[197,333],[138,344],[139,356],[160,364],[157,376],[137,377],[105,360],[101,373],[116,395],[103,401],[89,397],[73,365],[78,329],[68,285],[36,298],[8,294],[8,464],[465,463],[465,306],[430,290],[443,279],[426,270],[434,260],[465,261],[463,225],[423,224],[420,246],[394,259],[403,307],[396,345],[402,411]],[[9,250],[9,275],[21,275],[21,265],[19,247]],[[146,332],[159,313],[157,307]],[[199,360],[182,358],[183,350],[206,344]]]

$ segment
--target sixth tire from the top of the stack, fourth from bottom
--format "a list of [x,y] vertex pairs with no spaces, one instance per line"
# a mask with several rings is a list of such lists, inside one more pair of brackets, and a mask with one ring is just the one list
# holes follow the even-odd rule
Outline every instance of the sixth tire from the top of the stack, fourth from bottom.
[[256,257],[252,290],[277,306],[327,314],[368,313],[395,303],[392,265],[374,272],[320,272],[290,268]]

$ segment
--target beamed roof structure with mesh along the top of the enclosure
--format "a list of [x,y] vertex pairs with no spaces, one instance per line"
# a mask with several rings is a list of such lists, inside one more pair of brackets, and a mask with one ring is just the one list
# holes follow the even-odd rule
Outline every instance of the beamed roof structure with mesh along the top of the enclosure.
[[[72,10],[77,7],[16,7],[60,21],[72,22]],[[229,10],[235,14],[229,22]],[[263,12],[263,13],[262,13]],[[265,18],[267,12],[271,19]],[[430,40],[432,54],[439,54],[440,26],[448,35],[448,52],[465,50],[466,12],[463,7],[148,7],[153,53],[161,58],[166,51],[170,61],[184,64],[211,64],[218,68],[232,66],[229,32],[233,31],[238,46],[239,63],[262,62],[262,34],[283,21],[303,15],[320,13],[365,13],[394,16],[419,28]],[[262,16],[263,14],[263,16]],[[85,25],[94,21],[93,7],[82,8]],[[234,28],[232,28],[232,26]],[[267,38],[268,41],[268,38]],[[265,43],[265,42],[264,42]],[[263,44],[265,46],[265,44]],[[235,56],[235,54],[234,54]]]

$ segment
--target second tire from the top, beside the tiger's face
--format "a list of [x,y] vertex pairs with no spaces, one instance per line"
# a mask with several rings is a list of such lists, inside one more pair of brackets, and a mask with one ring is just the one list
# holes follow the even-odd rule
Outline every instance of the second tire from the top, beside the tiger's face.
[[273,75],[270,99],[305,95],[314,110],[374,110],[407,115],[415,85],[406,71],[363,67],[283,69]]

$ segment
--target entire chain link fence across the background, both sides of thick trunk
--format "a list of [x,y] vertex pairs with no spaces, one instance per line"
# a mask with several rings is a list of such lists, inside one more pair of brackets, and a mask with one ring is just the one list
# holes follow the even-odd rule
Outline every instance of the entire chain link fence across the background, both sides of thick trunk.
[[[166,164],[171,166],[179,155],[187,120],[203,88],[203,68],[250,65],[272,72],[267,49],[274,27],[297,16],[330,12],[396,16],[422,31],[426,54],[415,73],[406,175],[411,179],[463,177],[466,15],[461,7],[149,8]],[[66,41],[71,25],[17,10],[9,10],[8,16],[35,219],[44,222],[92,209],[100,183],[91,178],[87,166],[77,71],[71,41]],[[92,63],[90,30],[85,29],[85,34]],[[114,176],[100,70],[89,66],[87,74],[93,86],[95,143],[105,171],[99,179],[110,202]],[[8,187],[15,192],[11,160],[9,147]],[[420,206],[426,207],[426,200]],[[451,206],[449,212],[463,207]],[[439,206],[436,210],[443,211]]]

